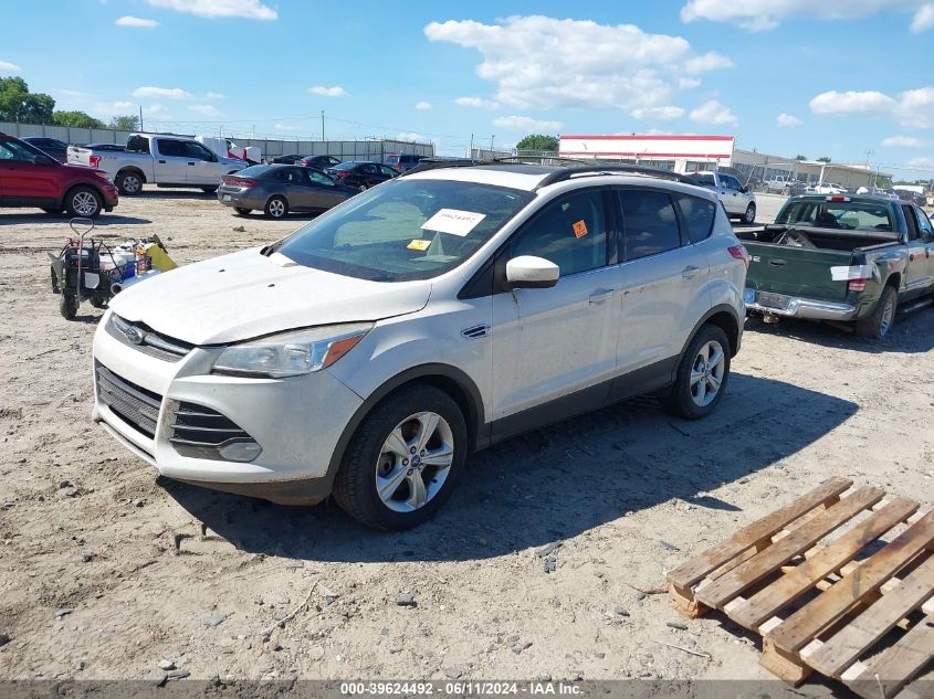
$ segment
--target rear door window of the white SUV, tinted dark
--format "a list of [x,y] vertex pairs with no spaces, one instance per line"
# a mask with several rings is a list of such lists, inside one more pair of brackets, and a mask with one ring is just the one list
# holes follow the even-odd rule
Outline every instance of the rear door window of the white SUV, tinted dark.
[[681,245],[681,233],[671,198],[664,192],[623,190],[622,204],[625,260],[657,255]]

